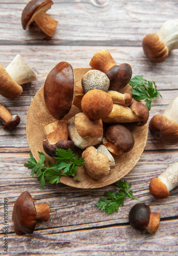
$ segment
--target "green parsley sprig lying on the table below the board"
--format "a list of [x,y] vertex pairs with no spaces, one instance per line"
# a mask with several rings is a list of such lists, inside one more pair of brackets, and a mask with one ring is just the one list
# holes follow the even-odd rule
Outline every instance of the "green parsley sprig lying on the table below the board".
[[113,214],[114,211],[118,212],[119,206],[124,204],[124,199],[126,197],[138,200],[133,197],[133,192],[130,190],[132,184],[128,185],[126,181],[119,180],[115,185],[120,188],[116,194],[114,192],[106,192],[107,199],[100,197],[100,201],[96,203],[96,206],[100,210],[105,210],[106,214]]

